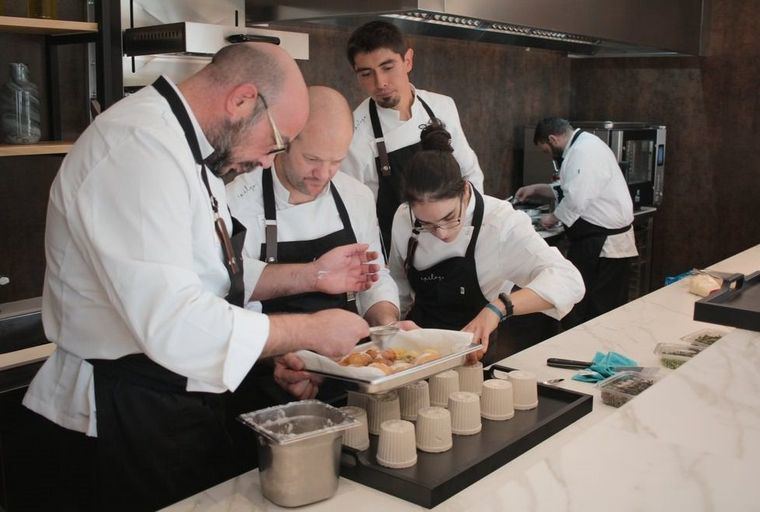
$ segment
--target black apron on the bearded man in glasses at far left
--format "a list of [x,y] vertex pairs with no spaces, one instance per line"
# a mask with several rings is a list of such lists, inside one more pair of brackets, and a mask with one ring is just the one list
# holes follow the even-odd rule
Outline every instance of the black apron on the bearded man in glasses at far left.
[[[163,77],[153,87],[171,106],[201,165],[230,275],[226,300],[242,307],[245,228],[233,218],[232,237],[226,236],[190,116]],[[235,476],[226,394],[188,392],[186,377],[145,354],[89,362],[94,368],[102,510],[156,510]]]

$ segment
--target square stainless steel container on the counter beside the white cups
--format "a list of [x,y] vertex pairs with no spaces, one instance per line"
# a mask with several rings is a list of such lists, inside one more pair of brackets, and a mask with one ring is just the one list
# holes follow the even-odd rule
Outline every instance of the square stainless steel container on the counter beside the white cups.
[[318,400],[240,416],[258,436],[261,491],[283,507],[330,498],[338,489],[341,433],[358,422]]

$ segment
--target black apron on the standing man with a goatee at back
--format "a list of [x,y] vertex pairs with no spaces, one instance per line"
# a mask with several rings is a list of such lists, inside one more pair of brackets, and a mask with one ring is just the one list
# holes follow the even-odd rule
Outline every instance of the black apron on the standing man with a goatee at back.
[[[430,116],[430,119],[435,119],[432,109],[419,94],[416,98],[420,100],[420,104],[428,116]],[[391,227],[393,226],[393,216],[401,204],[401,174],[414,154],[420,149],[420,143],[415,142],[388,153],[385,150],[385,136],[383,135],[383,128],[380,126],[380,118],[377,115],[377,105],[375,104],[375,100],[371,98],[369,100],[369,117],[372,121],[372,132],[375,136],[378,155],[375,158],[375,168],[377,169],[377,221],[380,224],[380,236],[382,238],[383,250],[385,251],[385,261],[388,261],[392,242]]]

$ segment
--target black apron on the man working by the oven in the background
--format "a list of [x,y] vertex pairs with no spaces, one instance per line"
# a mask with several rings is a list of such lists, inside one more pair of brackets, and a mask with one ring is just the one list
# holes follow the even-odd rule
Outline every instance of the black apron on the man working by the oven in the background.
[[[576,132],[570,146],[581,133],[583,130]],[[560,164],[561,162],[560,159]],[[562,196],[559,201],[562,201]],[[623,292],[628,287],[625,267],[630,266],[630,261],[628,258],[621,258],[621,261],[602,265],[599,255],[608,236],[625,233],[630,228],[630,224],[622,228],[605,228],[581,218],[572,226],[565,226],[568,239],[567,259],[581,273],[586,287],[586,294],[581,302],[575,305],[563,321],[565,328],[579,325],[622,304]]]

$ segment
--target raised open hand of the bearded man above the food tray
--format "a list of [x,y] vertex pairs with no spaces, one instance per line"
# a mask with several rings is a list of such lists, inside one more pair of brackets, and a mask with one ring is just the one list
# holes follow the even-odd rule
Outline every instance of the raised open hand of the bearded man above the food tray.
[[314,288],[323,293],[363,292],[379,279],[380,265],[370,263],[378,257],[367,244],[336,247],[323,254],[313,265]]

